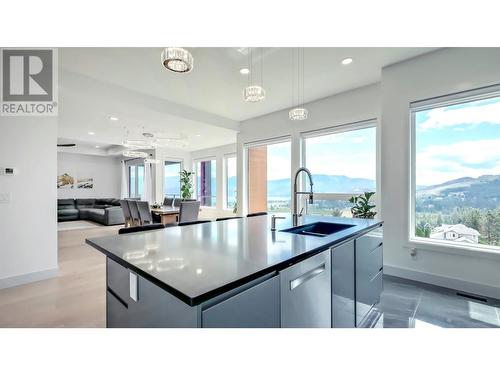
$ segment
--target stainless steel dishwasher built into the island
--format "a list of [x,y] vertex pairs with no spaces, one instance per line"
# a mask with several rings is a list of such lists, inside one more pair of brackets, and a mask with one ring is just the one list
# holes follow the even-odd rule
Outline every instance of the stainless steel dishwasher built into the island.
[[280,272],[281,327],[331,327],[330,251]]

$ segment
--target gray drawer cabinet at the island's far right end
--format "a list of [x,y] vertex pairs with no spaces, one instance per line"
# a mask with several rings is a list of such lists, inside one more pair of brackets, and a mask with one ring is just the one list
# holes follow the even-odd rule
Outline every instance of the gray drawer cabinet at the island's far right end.
[[383,289],[382,226],[356,239],[356,326],[380,301]]

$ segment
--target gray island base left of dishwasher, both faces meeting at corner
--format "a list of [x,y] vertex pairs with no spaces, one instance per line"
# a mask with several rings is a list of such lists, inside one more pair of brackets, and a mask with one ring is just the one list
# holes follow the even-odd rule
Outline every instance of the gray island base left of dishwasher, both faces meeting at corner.
[[109,328],[279,328],[276,273],[189,306],[115,261],[106,260],[106,326]]

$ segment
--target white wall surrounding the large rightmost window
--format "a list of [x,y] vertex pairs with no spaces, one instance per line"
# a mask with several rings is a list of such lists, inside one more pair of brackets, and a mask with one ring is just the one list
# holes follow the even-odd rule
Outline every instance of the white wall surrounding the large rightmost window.
[[[444,49],[382,72],[386,272],[500,298],[500,253],[409,243],[409,103],[500,83],[500,49]],[[417,256],[410,256],[410,248]]]

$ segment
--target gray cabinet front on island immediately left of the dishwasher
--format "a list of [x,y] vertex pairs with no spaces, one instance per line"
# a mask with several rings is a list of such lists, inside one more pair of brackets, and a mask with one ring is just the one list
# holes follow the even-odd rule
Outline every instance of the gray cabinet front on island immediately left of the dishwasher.
[[204,328],[279,328],[279,276],[254,285],[202,313]]

